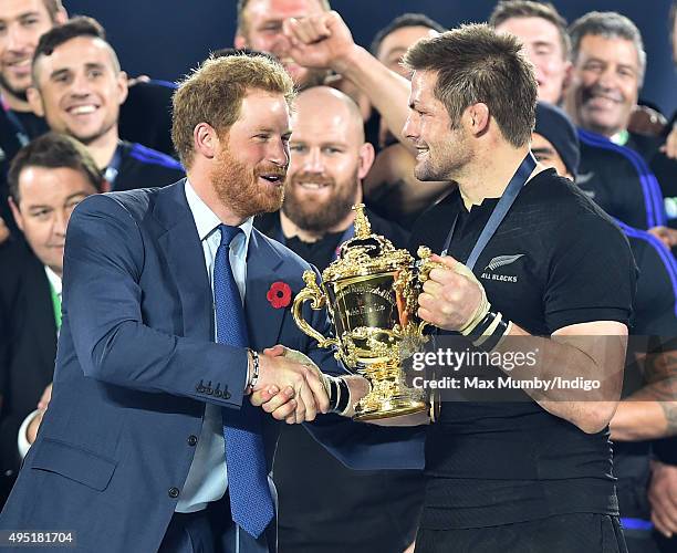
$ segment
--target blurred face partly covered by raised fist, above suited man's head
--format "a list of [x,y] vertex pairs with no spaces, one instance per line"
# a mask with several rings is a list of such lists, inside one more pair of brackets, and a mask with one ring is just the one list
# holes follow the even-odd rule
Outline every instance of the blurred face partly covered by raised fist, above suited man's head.
[[319,72],[301,67],[291,59],[290,42],[282,32],[282,23],[289,18],[317,15],[323,11],[319,0],[249,0],[242,14],[244,29],[236,36],[235,46],[274,55],[294,83],[305,84]]

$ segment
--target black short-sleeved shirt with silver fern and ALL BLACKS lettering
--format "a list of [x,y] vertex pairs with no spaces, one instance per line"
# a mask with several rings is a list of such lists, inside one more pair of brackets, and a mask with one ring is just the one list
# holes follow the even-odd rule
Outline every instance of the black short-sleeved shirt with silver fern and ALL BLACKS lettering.
[[[465,261],[498,199],[468,212],[452,192],[415,226],[410,250]],[[500,263],[497,263],[501,261]],[[508,261],[508,262],[506,262]],[[535,335],[591,321],[629,322],[635,264],[614,222],[570,180],[531,179],[479,257],[493,309]],[[444,403],[426,440],[421,526],[481,528],[560,513],[617,513],[608,432],[587,435],[525,394],[513,403]]]

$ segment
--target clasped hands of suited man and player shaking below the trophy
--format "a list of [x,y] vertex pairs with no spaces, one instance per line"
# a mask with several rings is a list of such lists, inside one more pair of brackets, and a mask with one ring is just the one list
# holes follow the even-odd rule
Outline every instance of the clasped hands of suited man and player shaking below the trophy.
[[251,404],[288,424],[314,420],[317,413],[350,417],[371,389],[362,376],[330,376],[301,352],[277,345],[259,358],[259,377]]

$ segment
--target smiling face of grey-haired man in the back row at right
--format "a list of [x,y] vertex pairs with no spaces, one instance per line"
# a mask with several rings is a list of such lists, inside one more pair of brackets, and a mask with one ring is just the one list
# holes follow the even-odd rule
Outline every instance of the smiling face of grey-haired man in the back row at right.
[[637,103],[639,73],[639,60],[632,41],[583,36],[566,111],[579,126],[613,136],[627,128]]

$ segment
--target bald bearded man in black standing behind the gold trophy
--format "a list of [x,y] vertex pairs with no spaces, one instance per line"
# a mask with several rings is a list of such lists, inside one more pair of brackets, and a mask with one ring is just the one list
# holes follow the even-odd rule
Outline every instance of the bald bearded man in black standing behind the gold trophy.
[[[323,270],[353,236],[351,207],[362,201],[374,148],[365,142],[355,103],[327,86],[299,94],[292,129],[282,209],[254,225]],[[367,217],[374,232],[405,247],[405,231],[373,212]],[[414,540],[423,501],[418,471],[348,470],[302,427],[289,426],[273,474],[281,553],[402,552]],[[322,493],[304,482],[321,482]]]

